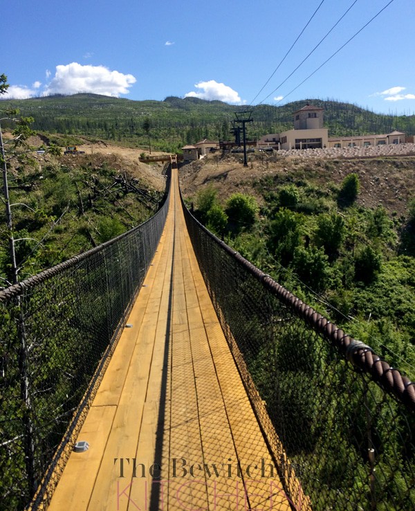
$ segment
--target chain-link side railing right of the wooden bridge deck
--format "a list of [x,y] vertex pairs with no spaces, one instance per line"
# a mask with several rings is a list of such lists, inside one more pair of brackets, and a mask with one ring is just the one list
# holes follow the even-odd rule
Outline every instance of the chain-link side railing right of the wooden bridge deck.
[[414,384],[183,209],[295,509],[414,510]]

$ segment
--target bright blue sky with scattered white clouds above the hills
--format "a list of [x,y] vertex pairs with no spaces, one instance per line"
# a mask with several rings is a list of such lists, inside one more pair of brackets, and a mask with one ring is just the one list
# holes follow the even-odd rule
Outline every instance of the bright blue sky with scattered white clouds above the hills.
[[295,89],[389,1],[15,0],[1,7],[0,74],[8,75],[8,97],[89,91],[250,105],[320,6],[253,104],[331,98],[413,114],[414,0],[392,1]]

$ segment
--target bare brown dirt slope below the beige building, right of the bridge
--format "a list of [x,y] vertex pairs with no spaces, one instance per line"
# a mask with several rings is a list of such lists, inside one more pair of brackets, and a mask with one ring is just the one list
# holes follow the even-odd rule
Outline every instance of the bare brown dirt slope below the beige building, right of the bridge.
[[224,200],[237,191],[255,195],[253,183],[265,176],[278,176],[281,183],[306,179],[328,188],[329,183],[340,185],[351,172],[360,179],[358,204],[369,208],[382,204],[389,213],[407,214],[407,202],[415,197],[414,156],[304,161],[259,153],[250,154],[248,167],[243,167],[239,154],[214,154],[183,165],[181,186],[185,196],[194,197],[197,190],[211,183]]

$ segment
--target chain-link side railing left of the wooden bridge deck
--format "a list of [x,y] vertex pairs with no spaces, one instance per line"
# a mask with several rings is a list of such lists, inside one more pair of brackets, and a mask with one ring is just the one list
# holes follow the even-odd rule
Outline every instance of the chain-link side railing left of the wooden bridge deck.
[[0,291],[0,509],[42,508],[73,449],[168,209]]

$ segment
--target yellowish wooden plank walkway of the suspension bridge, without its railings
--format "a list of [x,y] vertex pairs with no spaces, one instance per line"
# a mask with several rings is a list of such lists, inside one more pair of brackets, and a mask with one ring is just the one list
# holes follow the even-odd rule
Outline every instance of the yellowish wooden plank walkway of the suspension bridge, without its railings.
[[48,509],[291,509],[199,271],[177,170],[127,325],[78,437],[89,450],[71,454]]

